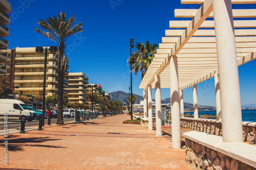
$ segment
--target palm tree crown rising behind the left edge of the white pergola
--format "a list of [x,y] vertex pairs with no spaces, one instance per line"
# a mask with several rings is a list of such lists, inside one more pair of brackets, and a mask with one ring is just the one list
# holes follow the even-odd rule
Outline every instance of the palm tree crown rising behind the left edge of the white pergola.
[[141,80],[146,74],[148,66],[154,58],[154,54],[158,48],[158,44],[150,44],[148,40],[145,44],[137,42],[135,47],[137,50],[134,51],[131,57],[129,57],[129,64],[133,64],[132,70],[137,74],[142,71]]

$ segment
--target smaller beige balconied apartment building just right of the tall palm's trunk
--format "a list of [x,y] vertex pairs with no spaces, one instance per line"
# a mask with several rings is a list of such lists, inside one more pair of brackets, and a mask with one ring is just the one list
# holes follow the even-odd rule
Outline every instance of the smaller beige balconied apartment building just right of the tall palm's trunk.
[[69,102],[86,103],[89,78],[83,72],[69,72],[68,79],[69,87],[65,90],[69,93],[65,96],[68,97]]

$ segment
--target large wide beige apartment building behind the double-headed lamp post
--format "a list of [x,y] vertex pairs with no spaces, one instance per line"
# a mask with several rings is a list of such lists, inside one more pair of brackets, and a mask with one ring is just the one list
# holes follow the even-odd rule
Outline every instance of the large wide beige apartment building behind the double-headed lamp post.
[[[14,72],[15,93],[29,97],[42,95],[44,86],[45,53],[35,52],[35,47],[15,48],[12,51],[12,61],[15,61]],[[14,70],[13,70],[14,69]],[[68,66],[67,66],[68,69]],[[63,88],[68,88],[68,71],[64,74]],[[54,53],[48,51],[46,70],[46,95],[58,91],[58,59]],[[64,90],[64,94],[68,91]]]

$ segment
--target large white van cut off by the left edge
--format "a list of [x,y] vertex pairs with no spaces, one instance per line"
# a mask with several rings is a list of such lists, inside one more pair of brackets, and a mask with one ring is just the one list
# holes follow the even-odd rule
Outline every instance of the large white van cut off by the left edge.
[[0,118],[7,115],[8,119],[28,120],[29,122],[34,119],[33,111],[29,110],[22,101],[0,99]]

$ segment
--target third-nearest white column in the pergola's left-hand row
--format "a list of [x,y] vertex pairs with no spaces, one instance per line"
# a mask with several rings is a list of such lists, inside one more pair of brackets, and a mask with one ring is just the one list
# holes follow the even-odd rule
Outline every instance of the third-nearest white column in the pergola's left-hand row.
[[156,78],[155,98],[156,98],[156,135],[162,136],[162,109],[161,109],[160,76],[157,76],[157,78]]

